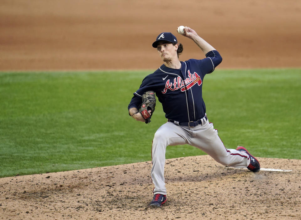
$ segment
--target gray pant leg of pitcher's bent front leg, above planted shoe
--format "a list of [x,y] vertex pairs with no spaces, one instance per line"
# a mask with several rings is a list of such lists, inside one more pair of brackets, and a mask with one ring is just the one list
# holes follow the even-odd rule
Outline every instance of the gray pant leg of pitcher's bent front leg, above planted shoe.
[[183,145],[187,143],[186,133],[181,126],[167,122],[155,133],[152,145],[151,180],[155,185],[154,194],[166,195],[164,165],[166,146]]

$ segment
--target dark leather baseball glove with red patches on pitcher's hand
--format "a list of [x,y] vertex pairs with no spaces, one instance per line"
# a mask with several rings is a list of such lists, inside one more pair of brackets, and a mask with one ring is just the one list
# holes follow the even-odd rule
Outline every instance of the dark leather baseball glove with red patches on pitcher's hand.
[[[142,117],[145,119],[145,124],[150,123],[150,118],[154,114],[156,106],[156,95],[154,91],[147,91],[142,95],[142,104],[140,107],[139,112],[141,113]],[[151,110],[151,115],[148,112]]]

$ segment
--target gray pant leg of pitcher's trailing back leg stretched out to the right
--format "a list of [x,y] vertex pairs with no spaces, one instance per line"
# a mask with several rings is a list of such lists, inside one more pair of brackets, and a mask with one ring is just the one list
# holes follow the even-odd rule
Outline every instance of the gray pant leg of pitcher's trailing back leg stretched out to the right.
[[212,123],[207,121],[204,125],[198,125],[192,132],[193,138],[189,140],[189,144],[203,150],[220,164],[237,168],[250,164],[250,157],[246,152],[225,148]]

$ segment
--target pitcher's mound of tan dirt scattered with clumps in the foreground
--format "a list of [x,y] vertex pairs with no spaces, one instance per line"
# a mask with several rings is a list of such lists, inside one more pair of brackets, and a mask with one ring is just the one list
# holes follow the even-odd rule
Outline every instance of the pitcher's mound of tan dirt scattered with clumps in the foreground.
[[167,202],[148,208],[150,162],[0,179],[0,219],[300,219],[301,160],[222,166],[210,156],[166,160]]

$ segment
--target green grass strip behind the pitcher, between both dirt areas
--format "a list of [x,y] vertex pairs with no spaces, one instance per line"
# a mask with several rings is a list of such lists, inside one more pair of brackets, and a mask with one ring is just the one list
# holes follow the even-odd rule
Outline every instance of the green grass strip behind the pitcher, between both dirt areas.
[[[152,71],[0,73],[0,177],[151,160],[161,104],[149,125],[127,111]],[[301,69],[215,70],[207,115],[227,148],[301,159]],[[203,155],[168,146],[166,158]]]

